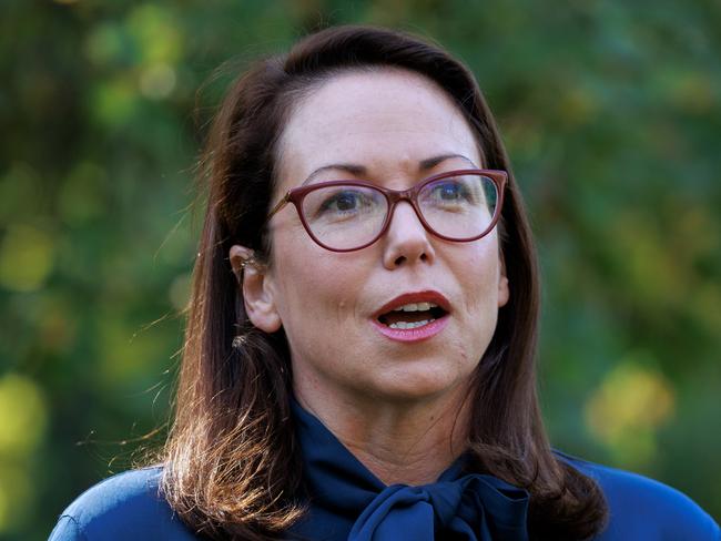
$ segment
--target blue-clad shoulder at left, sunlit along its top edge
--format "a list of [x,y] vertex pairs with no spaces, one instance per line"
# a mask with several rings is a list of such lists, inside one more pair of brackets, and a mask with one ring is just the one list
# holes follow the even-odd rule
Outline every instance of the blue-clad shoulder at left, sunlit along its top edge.
[[60,516],[50,541],[195,538],[160,493],[162,468],[119,473],[80,494]]

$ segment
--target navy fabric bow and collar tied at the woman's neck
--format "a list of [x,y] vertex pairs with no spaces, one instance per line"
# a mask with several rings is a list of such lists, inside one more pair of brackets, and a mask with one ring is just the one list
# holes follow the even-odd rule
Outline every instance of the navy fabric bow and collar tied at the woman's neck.
[[312,509],[338,523],[355,519],[348,541],[528,541],[526,490],[464,476],[464,457],[434,483],[385,486],[318,419],[293,409]]

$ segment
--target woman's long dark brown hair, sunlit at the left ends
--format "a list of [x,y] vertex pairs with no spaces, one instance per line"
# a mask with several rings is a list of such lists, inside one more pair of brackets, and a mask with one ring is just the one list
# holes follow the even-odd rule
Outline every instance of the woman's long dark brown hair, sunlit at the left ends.
[[250,324],[229,251],[241,244],[270,254],[263,224],[277,141],[298,96],[338,71],[386,67],[438,83],[475,130],[484,165],[509,173],[501,252],[511,296],[476,371],[475,467],[529,490],[531,539],[586,539],[602,528],[607,506],[592,479],[554,456],[545,433],[536,392],[538,268],[491,113],[473,74],[441,48],[372,27],[331,28],[286,55],[256,62],[216,114],[203,161],[207,210],[162,490],[190,528],[213,539],[276,539],[303,514],[287,343],[282,330],[268,335]]

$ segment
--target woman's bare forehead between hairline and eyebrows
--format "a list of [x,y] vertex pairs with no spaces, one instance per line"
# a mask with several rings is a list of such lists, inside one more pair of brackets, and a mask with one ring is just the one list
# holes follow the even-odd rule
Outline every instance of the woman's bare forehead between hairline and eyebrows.
[[431,156],[460,154],[483,166],[475,134],[451,98],[399,69],[346,72],[314,88],[296,103],[278,150],[283,188],[328,163],[410,174]]

